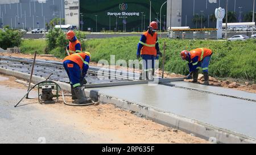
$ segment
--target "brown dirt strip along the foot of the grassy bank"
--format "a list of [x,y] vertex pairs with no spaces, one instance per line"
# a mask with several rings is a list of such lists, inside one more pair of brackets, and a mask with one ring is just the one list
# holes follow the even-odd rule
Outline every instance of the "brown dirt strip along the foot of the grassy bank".
[[[1,53],[0,55],[22,57],[22,58],[34,58],[34,55],[25,55],[22,53]],[[60,58],[42,57],[40,55],[38,55],[36,58],[43,59],[43,60],[62,61]],[[98,64],[96,62],[90,62],[90,65],[97,66]],[[102,67],[104,67],[104,66],[102,66]],[[140,70],[133,70],[130,68],[124,68],[122,66],[110,66],[110,68],[125,69],[125,70],[129,70],[130,72],[140,73]],[[156,70],[155,73],[158,74],[158,76],[162,77],[162,70]],[[203,75],[201,75],[201,76],[203,76]],[[164,77],[175,78],[175,77],[184,77],[184,75],[164,72]],[[184,81],[189,82],[191,80],[185,79]],[[204,79],[199,76],[199,83],[203,83],[203,82],[204,82]],[[222,79],[209,77],[209,83],[211,86],[226,87],[226,88],[230,88],[230,89],[236,89],[236,90],[247,91],[250,93],[256,93],[256,85],[254,82],[251,82],[251,81],[234,81],[234,79],[231,79],[231,78],[222,80]]]

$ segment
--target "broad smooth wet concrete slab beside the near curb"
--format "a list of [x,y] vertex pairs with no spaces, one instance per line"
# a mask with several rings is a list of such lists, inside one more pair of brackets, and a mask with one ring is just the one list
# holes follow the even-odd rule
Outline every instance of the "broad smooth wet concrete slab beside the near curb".
[[146,104],[161,111],[256,138],[255,102],[164,85],[143,84],[88,90],[98,90],[101,94]]

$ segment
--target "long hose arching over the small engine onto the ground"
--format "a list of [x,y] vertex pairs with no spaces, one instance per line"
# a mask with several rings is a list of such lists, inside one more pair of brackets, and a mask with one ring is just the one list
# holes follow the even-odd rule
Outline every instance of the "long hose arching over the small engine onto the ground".
[[60,88],[60,90],[61,90],[61,94],[62,94],[62,98],[63,98],[64,104],[66,104],[66,105],[68,105],[68,106],[89,106],[89,105],[94,104],[93,101],[92,101],[92,103],[85,103],[85,104],[67,103],[67,102],[65,101],[64,93],[63,93],[63,90],[61,89],[60,85],[59,85],[58,83],[54,82],[54,81],[48,81],[48,80],[47,80],[47,81],[38,82],[38,83],[36,83],[34,86],[32,86],[31,89],[29,89],[29,90],[27,91],[27,93],[24,95],[24,97],[23,97],[22,99],[20,99],[19,102],[18,102],[14,107],[17,107],[18,104],[30,93],[30,91],[31,91],[32,89],[34,89],[34,88],[35,88],[36,86],[38,86],[40,83],[44,83],[44,82],[52,82],[52,83],[55,83],[56,86],[58,86],[58,87]]

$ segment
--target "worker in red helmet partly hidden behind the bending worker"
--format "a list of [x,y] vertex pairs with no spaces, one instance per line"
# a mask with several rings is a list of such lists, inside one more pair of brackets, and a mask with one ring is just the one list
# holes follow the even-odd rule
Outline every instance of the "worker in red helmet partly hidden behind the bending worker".
[[65,47],[65,49],[69,51],[69,55],[82,52],[81,43],[77,39],[75,32],[68,31],[66,35],[67,39],[69,40],[69,44]]

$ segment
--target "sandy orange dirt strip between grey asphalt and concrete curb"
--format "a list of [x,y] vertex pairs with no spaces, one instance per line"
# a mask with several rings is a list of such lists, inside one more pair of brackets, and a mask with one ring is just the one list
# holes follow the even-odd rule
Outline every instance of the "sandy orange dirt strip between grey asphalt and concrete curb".
[[[24,89],[25,93],[27,88],[15,82],[15,79],[0,74],[0,85]],[[71,101],[70,98],[67,100]],[[23,104],[37,102],[37,99],[23,100]],[[109,143],[117,143],[117,139],[121,140],[121,143],[209,143],[188,133],[131,114],[130,111],[122,110],[113,104],[86,107],[66,106],[63,103],[26,106],[40,106],[40,110],[60,114],[63,119],[58,120],[59,122],[75,125],[82,131],[110,135],[112,138]]]

